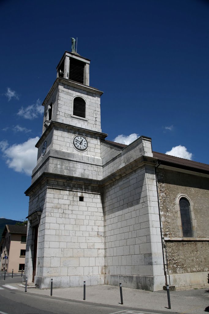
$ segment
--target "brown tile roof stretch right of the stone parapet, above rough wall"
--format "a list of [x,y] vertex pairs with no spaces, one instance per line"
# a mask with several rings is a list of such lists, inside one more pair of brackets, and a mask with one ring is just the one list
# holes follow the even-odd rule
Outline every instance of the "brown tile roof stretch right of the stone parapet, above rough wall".
[[177,166],[191,168],[191,170],[193,170],[193,171],[194,171],[194,169],[196,169],[196,171],[201,171],[201,172],[205,172],[205,171],[207,172],[208,171],[209,172],[209,165],[202,164],[201,162],[188,160],[188,159],[184,159],[184,158],[179,158],[179,157],[175,157],[175,156],[170,156],[170,155],[157,153],[157,152],[153,152],[153,157],[159,159],[160,161],[162,161],[164,163],[172,163],[172,164],[175,164]]

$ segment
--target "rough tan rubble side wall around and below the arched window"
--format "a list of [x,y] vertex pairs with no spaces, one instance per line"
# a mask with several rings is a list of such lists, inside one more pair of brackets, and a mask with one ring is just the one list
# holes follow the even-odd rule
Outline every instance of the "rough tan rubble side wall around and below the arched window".
[[180,194],[191,200],[196,241],[165,241],[170,274],[193,273],[208,270],[209,238],[209,179],[177,171],[157,168],[162,232],[167,238],[181,238],[178,223],[177,198]]

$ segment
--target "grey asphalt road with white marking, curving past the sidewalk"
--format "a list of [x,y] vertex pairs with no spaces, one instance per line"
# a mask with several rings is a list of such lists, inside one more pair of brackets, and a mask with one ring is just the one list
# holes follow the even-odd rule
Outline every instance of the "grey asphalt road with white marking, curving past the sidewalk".
[[[0,314],[150,314],[153,311],[140,311],[105,304],[96,304],[86,301],[66,300],[56,297],[35,295],[19,290],[13,283],[21,282],[19,274],[13,276],[8,274],[3,280],[3,273],[0,273]],[[16,285],[17,286],[17,285]],[[168,313],[167,311],[154,311],[154,313]],[[171,311],[171,314],[175,312]]]

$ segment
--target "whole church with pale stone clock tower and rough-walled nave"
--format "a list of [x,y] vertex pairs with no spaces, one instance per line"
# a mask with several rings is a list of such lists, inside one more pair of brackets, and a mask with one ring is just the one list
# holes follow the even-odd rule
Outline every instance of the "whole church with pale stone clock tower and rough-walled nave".
[[24,278],[40,289],[206,285],[209,165],[153,152],[146,136],[106,140],[89,66],[65,51],[42,104]]

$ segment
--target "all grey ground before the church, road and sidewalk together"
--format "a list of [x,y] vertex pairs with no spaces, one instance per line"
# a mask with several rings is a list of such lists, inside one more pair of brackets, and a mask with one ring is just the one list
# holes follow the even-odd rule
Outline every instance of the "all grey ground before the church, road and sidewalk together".
[[[87,287],[87,300],[82,299],[82,287],[39,290],[24,288],[19,274],[8,274],[3,280],[0,273],[0,314],[167,314],[167,313],[205,313],[209,305],[209,289],[171,292],[171,310],[167,308],[166,292],[149,292],[123,288],[124,304],[120,304],[119,290],[115,286]],[[145,307],[146,306],[146,307]],[[156,309],[156,310],[155,310]],[[209,310],[208,310],[209,311]]]

